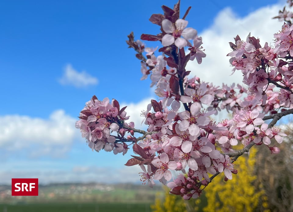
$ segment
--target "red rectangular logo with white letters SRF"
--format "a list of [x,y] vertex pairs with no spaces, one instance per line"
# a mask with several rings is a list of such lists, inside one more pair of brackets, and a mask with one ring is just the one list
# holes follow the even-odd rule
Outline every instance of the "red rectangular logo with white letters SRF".
[[38,196],[38,178],[12,178],[12,196]]

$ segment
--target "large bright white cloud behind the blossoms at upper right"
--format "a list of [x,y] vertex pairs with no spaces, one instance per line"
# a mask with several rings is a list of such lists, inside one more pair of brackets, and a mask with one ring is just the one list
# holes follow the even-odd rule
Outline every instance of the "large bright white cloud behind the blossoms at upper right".
[[272,5],[260,8],[243,18],[237,17],[230,8],[223,9],[216,16],[211,27],[204,30],[199,36],[202,37],[206,58],[200,65],[196,60],[190,61],[186,70],[191,70],[191,75],[196,75],[202,81],[212,82],[215,85],[242,84],[242,73],[237,71],[230,76],[232,67],[229,42],[234,42],[238,34],[242,40],[246,40],[249,32],[251,36],[260,39],[263,46],[265,42],[273,45],[273,34],[281,29],[282,23],[271,17],[276,16],[282,5]]

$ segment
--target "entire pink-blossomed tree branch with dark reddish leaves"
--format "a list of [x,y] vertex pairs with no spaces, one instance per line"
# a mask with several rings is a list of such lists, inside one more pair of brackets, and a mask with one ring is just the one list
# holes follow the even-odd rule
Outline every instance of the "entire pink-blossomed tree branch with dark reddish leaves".
[[[186,28],[190,8],[180,18],[179,3],[174,9],[162,6],[164,15],[150,17],[161,27],[160,34],[140,37],[161,41],[160,49],[135,41],[133,33],[128,35],[127,44],[141,60],[141,79],[150,75],[159,99],[151,100],[141,113],[147,131],[125,123],[125,108],[120,110],[116,100],[99,101],[95,96],[81,111],[76,125],[96,151],[125,154],[133,144],[136,156],[125,165],[139,165],[144,184],[152,187],[158,180],[168,185],[171,193],[190,199],[200,196],[219,173],[224,173],[225,180],[232,179],[232,174],[237,174],[233,162],[253,145],[280,152],[273,143],[281,143],[286,135],[274,125],[293,113],[293,25],[285,23],[274,34],[274,46],[265,43],[262,47],[250,34],[245,41],[237,35],[235,43],[230,42],[233,51],[228,56],[232,73],[241,71],[244,85],[214,86],[198,76],[188,78],[187,62],[196,59],[200,64],[206,55],[197,31]],[[159,56],[155,55],[157,49],[162,52]],[[221,110],[231,113],[232,118],[216,123],[211,116]],[[125,138],[126,132],[130,135]],[[137,138],[134,132],[143,135]],[[243,149],[235,148],[237,145]],[[174,174],[176,171],[180,174]]]

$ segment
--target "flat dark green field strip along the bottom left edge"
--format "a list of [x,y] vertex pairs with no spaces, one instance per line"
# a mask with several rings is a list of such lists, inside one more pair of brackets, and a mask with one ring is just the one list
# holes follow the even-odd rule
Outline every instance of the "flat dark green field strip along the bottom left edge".
[[149,203],[0,204],[0,212],[150,212]]

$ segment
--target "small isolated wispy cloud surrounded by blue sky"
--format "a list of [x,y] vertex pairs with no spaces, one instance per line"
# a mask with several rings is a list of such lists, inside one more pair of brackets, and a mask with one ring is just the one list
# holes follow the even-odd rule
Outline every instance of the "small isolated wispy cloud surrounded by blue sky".
[[63,77],[59,80],[59,82],[63,85],[70,84],[80,88],[88,85],[96,85],[98,84],[98,79],[96,77],[92,77],[85,71],[78,72],[73,69],[71,64],[68,64],[65,67]]

